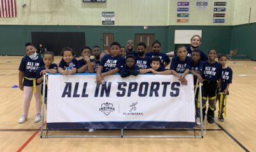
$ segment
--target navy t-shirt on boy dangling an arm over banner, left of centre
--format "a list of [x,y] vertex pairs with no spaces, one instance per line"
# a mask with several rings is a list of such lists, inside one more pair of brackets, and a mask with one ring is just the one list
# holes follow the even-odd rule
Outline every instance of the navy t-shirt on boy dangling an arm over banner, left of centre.
[[124,66],[124,61],[124,57],[122,56],[112,57],[110,54],[106,54],[101,59],[101,63],[99,63],[99,65],[103,66],[102,73],[104,73],[115,68],[121,69],[122,66]]

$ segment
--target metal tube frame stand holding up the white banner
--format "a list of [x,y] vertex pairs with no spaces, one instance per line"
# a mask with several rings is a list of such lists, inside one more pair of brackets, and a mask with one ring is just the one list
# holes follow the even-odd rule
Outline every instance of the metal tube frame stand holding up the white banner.
[[[49,129],[46,129],[46,134],[43,135],[43,126],[44,126],[44,118],[45,118],[45,85],[46,85],[46,75],[43,75],[43,102],[42,102],[42,118],[41,118],[41,138],[203,138],[204,137],[204,130],[203,130],[203,108],[202,108],[202,84],[199,83],[199,96],[200,96],[200,117],[201,117],[201,136],[196,136],[196,129],[167,129],[167,130],[194,130],[194,136],[151,136],[151,135],[145,135],[145,136],[139,136],[139,135],[124,135],[124,129],[120,130],[120,135],[81,135],[81,136],[75,136],[75,135],[62,135],[62,136],[49,136],[48,132]],[[152,130],[152,129],[150,129]],[[157,129],[155,129],[157,130]]]

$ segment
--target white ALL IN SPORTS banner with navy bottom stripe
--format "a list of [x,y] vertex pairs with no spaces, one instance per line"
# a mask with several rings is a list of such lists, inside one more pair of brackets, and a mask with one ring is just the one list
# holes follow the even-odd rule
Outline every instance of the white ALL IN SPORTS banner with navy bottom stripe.
[[48,75],[48,129],[194,128],[192,75]]

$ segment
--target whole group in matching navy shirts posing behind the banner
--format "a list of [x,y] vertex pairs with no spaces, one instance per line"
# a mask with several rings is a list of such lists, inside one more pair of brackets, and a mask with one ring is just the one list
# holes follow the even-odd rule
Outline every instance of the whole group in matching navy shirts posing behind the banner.
[[[194,39],[199,39],[194,42]],[[197,44],[197,46],[196,46]],[[83,47],[81,50],[81,60],[76,60],[75,51],[71,47],[62,49],[62,60],[59,66],[53,63],[53,53],[45,52],[44,58],[40,58],[36,54],[36,47],[31,43],[26,44],[27,55],[22,58],[19,68],[19,87],[24,91],[24,108],[19,123],[24,123],[29,110],[32,92],[36,98],[36,118],[34,122],[41,120],[40,107],[40,87],[43,81],[44,73],[61,73],[63,75],[71,75],[74,73],[96,73],[97,84],[102,84],[104,77],[120,73],[121,77],[129,77],[129,75],[138,75],[143,73],[153,74],[173,74],[178,77],[182,85],[187,85],[185,76],[188,73],[194,75],[195,84],[197,81],[203,82],[203,118],[206,112],[206,101],[209,101],[207,112],[207,120],[209,123],[214,122],[214,111],[217,91],[220,92],[221,105],[219,120],[224,121],[223,111],[225,99],[229,93],[229,84],[232,82],[232,70],[226,66],[227,56],[221,54],[219,62],[217,51],[210,49],[208,58],[198,47],[201,44],[201,37],[194,35],[191,39],[191,48],[178,46],[172,61],[168,54],[161,53],[160,42],[156,41],[152,44],[152,52],[146,53],[146,45],[143,42],[137,44],[137,51],[134,51],[133,41],[127,41],[127,46],[121,47],[118,42],[113,42],[110,47],[110,53],[101,55],[100,47],[94,46]],[[203,56],[203,57],[202,57]],[[205,60],[205,61],[204,61]],[[166,68],[171,62],[169,69]],[[198,89],[197,89],[198,90]],[[198,91],[195,98],[196,103],[196,125],[200,126]]]

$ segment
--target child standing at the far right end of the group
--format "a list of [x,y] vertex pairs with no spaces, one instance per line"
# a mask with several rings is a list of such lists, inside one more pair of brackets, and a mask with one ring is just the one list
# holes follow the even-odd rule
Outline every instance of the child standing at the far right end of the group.
[[227,63],[227,55],[220,54],[218,56],[218,61],[222,65],[222,82],[220,85],[220,92],[217,95],[218,98],[218,105],[219,105],[219,115],[218,120],[220,122],[224,122],[224,107],[225,107],[225,100],[227,99],[227,95],[229,95],[229,85],[232,83],[232,69],[226,65]]

